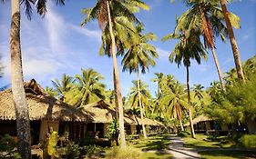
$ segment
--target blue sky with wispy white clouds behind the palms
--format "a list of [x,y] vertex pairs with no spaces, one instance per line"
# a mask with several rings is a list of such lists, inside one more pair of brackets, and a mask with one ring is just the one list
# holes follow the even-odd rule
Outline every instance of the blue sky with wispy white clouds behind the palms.
[[[48,1],[50,2],[50,1]],[[25,80],[35,78],[43,86],[52,86],[51,80],[60,78],[62,74],[80,74],[81,68],[94,68],[105,76],[103,81],[108,88],[113,88],[112,59],[98,55],[101,43],[101,31],[97,22],[91,22],[86,27],[80,27],[84,16],[80,9],[90,7],[96,1],[76,0],[76,3],[67,0],[65,6],[56,6],[49,3],[45,18],[36,15],[34,11],[32,21],[28,21],[22,15],[21,41]],[[138,18],[145,25],[145,32],[152,32],[158,36],[158,41],[152,42],[157,48],[159,59],[157,65],[150,68],[149,73],[141,75],[141,79],[149,85],[153,94],[157,84],[151,82],[154,73],[162,72],[175,75],[181,83],[186,81],[185,68],[179,69],[176,64],[169,63],[169,53],[175,42],[161,42],[160,39],[173,31],[175,16],[181,15],[186,6],[177,1],[169,3],[169,0],[145,0],[150,6],[149,11],[141,11]],[[228,5],[228,9],[241,17],[241,29],[235,30],[235,35],[241,52],[241,60],[245,61],[256,54],[256,0],[237,1]],[[21,7],[23,9],[23,7]],[[10,84],[10,54],[9,54],[9,25],[10,2],[0,4],[0,55],[1,63],[5,66],[4,78],[0,86]],[[234,67],[230,42],[226,44],[216,39],[216,52],[219,58],[222,72]],[[120,66],[121,58],[118,58]],[[123,95],[128,94],[131,81],[136,75],[121,73],[121,88]],[[201,65],[193,63],[190,68],[190,82],[209,86],[213,80],[218,80],[212,55],[209,54],[207,62]]]

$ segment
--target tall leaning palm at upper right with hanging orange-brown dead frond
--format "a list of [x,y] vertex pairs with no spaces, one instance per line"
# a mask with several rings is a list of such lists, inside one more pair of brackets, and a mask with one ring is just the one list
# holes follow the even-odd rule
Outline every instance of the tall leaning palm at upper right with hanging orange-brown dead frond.
[[[204,45],[206,48],[210,48],[213,55],[214,63],[217,68],[217,72],[220,78],[220,84],[225,92],[225,83],[223,75],[220,70],[219,61],[215,52],[216,36],[220,36],[222,41],[225,41],[228,36],[228,31],[224,25],[224,17],[222,15],[221,8],[218,1],[204,1],[204,0],[189,0],[187,5],[190,5],[188,11],[180,16],[178,25],[175,29],[175,33],[179,32],[179,27],[189,24],[189,32],[191,29],[200,31],[203,36]],[[240,27],[240,18],[237,15],[231,14],[232,25],[236,28]],[[189,35],[189,34],[188,34]]]

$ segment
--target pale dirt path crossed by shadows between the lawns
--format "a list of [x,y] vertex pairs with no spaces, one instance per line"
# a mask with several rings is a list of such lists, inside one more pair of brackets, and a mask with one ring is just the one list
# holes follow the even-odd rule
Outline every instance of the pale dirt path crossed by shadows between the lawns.
[[201,158],[197,150],[184,147],[184,141],[180,137],[170,137],[170,141],[169,153],[173,155],[174,159]]

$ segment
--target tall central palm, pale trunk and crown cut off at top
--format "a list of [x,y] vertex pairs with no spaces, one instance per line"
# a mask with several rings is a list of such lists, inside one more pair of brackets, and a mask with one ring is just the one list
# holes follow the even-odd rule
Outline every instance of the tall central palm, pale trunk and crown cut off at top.
[[[120,79],[118,73],[118,61],[116,54],[116,46],[118,45],[114,35],[113,19],[115,15],[122,15],[122,17],[128,18],[128,21],[138,23],[137,17],[134,15],[135,10],[139,8],[148,9],[148,5],[145,5],[140,0],[98,0],[96,5],[89,9],[83,9],[83,13],[87,15],[82,25],[86,25],[90,20],[97,19],[99,26],[102,31],[108,32],[110,36],[111,45],[108,55],[112,56],[113,68],[114,68],[114,88],[117,97],[117,107],[119,115],[119,133],[120,133],[120,146],[125,147],[125,128],[124,128],[124,115],[123,115],[123,104],[122,94],[120,88]],[[108,26],[108,27],[107,27]],[[103,36],[102,36],[103,37]],[[106,48],[105,48],[106,49]]]

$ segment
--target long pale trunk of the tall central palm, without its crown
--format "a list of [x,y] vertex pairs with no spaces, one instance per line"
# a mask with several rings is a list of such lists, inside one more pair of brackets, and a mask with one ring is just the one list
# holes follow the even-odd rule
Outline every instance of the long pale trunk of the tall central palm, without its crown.
[[113,66],[114,66],[114,78],[116,82],[114,82],[115,88],[116,88],[116,94],[118,97],[118,114],[119,114],[119,132],[120,132],[120,146],[121,148],[124,148],[126,146],[126,138],[125,138],[125,125],[124,125],[124,111],[123,111],[123,102],[122,102],[122,94],[121,94],[121,87],[120,87],[120,79],[118,74],[118,61],[116,56],[116,41],[115,36],[113,34],[113,28],[112,28],[112,21],[111,21],[111,15],[110,15],[110,7],[109,2],[107,1],[107,8],[108,8],[108,25],[109,25],[109,33],[111,37],[111,54],[113,58]]

